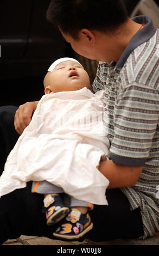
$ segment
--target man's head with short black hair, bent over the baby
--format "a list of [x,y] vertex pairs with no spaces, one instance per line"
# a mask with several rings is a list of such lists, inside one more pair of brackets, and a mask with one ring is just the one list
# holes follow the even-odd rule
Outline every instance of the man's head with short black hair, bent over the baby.
[[117,59],[115,35],[123,33],[128,15],[122,0],[52,0],[47,20],[59,27],[75,52],[107,62]]

